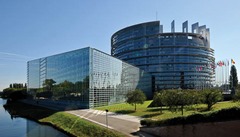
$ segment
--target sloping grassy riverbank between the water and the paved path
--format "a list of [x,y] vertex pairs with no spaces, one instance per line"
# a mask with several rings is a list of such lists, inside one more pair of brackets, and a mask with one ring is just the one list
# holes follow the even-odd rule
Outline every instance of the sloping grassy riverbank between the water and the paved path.
[[121,133],[96,125],[72,114],[32,106],[21,102],[11,102],[4,106],[14,116],[34,120],[40,124],[51,125],[69,136],[78,137],[121,137]]

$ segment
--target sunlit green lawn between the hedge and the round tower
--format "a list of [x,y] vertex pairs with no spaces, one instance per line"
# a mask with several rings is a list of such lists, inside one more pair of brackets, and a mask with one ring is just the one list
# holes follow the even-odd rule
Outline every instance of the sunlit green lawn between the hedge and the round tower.
[[[145,101],[142,105],[137,105],[137,111],[134,111],[134,106],[129,105],[127,103],[116,104],[111,106],[104,106],[95,108],[97,110],[106,110],[108,109],[111,112],[121,113],[121,114],[129,114],[133,116],[140,116],[143,118],[151,118],[151,119],[168,119],[173,117],[182,116],[181,111],[171,112],[166,107],[163,108],[163,113],[160,113],[159,108],[147,108],[147,106],[152,102]],[[184,116],[195,114],[195,113],[209,113],[213,111],[217,111],[223,108],[230,108],[234,106],[240,106],[239,103],[235,103],[232,101],[224,101],[215,104],[211,111],[205,111],[207,105],[199,104],[193,106],[187,106],[184,109]]]

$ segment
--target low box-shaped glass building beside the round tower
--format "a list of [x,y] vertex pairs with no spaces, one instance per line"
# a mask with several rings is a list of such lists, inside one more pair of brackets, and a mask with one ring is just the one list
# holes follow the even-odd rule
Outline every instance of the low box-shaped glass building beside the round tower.
[[152,76],[94,48],[83,48],[28,62],[28,93],[34,99],[77,108],[125,101],[140,89],[152,97]]

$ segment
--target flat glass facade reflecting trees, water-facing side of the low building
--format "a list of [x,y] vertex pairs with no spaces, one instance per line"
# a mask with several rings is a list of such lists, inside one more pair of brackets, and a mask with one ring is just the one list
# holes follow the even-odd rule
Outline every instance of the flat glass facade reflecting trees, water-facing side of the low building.
[[36,99],[89,107],[89,48],[30,61],[28,75],[28,91]]

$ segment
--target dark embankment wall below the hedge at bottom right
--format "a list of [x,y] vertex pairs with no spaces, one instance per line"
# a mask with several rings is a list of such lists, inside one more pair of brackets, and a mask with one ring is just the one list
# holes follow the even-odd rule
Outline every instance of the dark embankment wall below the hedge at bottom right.
[[164,127],[142,127],[141,131],[159,137],[240,137],[240,120]]

